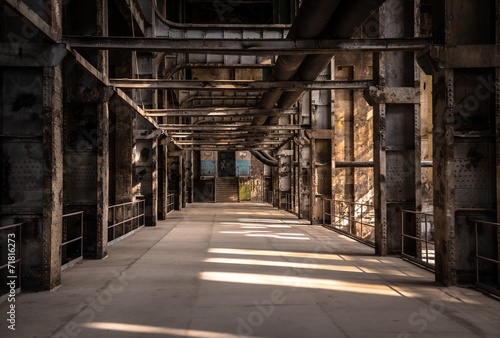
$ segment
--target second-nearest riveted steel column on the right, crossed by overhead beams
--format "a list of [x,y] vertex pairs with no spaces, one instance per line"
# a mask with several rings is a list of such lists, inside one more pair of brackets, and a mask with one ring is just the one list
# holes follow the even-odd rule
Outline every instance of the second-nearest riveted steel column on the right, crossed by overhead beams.
[[[381,37],[418,36],[418,8],[419,0],[386,1],[380,7]],[[381,52],[375,66],[379,86],[420,89],[413,52]],[[401,253],[398,209],[421,208],[419,103],[399,99],[383,100],[374,108],[375,247],[380,255]]]

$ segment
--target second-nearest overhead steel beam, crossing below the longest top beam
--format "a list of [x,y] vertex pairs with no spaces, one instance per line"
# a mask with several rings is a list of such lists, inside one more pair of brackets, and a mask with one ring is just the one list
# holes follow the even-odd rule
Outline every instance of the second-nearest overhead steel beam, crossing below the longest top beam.
[[243,80],[164,80],[164,79],[111,79],[110,84],[128,89],[185,89],[185,90],[236,90],[281,91],[365,89],[373,81],[243,81]]

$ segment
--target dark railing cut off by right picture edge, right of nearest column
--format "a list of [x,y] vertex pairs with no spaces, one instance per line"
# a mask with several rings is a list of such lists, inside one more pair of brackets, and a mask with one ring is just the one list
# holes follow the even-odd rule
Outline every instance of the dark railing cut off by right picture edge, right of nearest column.
[[[488,238],[493,238],[494,240],[498,241],[498,238],[500,236],[500,223],[494,223],[494,222],[488,222],[488,221],[481,221],[481,220],[471,220],[471,222],[474,223],[474,241],[476,244],[476,250],[475,250],[475,255],[476,255],[476,286],[480,289],[486,290],[492,294],[495,294],[497,296],[500,296],[500,260],[498,257],[500,256],[500,250],[498,249],[498,246],[493,245],[495,248],[495,253],[493,255],[496,256],[496,258],[492,257],[487,257],[486,255],[482,254],[481,251],[484,252],[485,246],[481,246],[483,250],[481,250],[479,246],[479,233],[482,233],[483,236],[488,236]],[[488,231],[484,229],[484,227],[494,227],[492,230],[494,233],[488,234]],[[482,229],[479,229],[479,228]],[[479,231],[481,230],[481,231]],[[480,262],[483,262],[485,264],[480,264]],[[489,264],[494,264],[496,265],[496,269],[494,271],[488,271],[487,265]],[[487,276],[481,276],[481,271],[485,272],[490,272],[488,275],[493,276],[493,281],[485,281],[484,279],[487,279]],[[483,281],[481,280],[481,277],[483,277]]]

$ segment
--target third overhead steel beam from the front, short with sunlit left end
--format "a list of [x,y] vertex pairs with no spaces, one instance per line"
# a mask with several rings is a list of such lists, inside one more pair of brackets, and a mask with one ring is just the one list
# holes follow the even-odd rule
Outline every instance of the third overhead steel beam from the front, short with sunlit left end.
[[193,109],[147,109],[150,117],[216,117],[216,116],[254,116],[254,115],[293,115],[297,109],[259,109],[259,108],[193,108]]

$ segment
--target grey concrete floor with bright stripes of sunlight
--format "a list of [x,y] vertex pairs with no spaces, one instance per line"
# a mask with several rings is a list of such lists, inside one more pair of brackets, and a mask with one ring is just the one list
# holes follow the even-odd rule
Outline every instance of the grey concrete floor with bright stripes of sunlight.
[[268,205],[168,218],[19,295],[0,337],[500,337],[499,301]]

